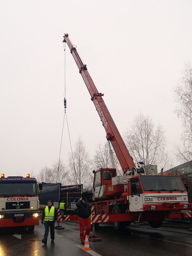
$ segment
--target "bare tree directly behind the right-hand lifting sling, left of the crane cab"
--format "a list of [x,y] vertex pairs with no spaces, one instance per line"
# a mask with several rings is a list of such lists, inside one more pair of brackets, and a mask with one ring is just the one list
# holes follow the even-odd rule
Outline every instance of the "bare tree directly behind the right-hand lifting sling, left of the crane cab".
[[86,186],[86,184],[89,183],[89,155],[80,136],[76,141],[73,155],[69,155],[69,167],[71,173],[71,182],[73,184],[78,183]]

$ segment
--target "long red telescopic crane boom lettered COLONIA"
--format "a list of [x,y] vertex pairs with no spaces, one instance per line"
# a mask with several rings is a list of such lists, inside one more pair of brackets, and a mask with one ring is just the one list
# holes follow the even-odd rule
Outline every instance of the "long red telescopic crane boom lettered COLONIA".
[[129,151],[109,113],[109,110],[104,103],[104,100],[102,98],[104,94],[97,91],[97,88],[95,87],[95,84],[91,76],[89,75],[86,65],[83,64],[79,54],[77,53],[76,48],[73,46],[69,39],[68,34],[64,35],[63,42],[67,43],[67,45],[69,46],[71,54],[73,55],[73,58],[79,68],[79,73],[81,74],[87,86],[87,89],[91,95],[91,100],[93,101],[97,113],[99,114],[101,122],[105,128],[107,134],[106,138],[111,142],[116,156],[119,160],[119,163],[123,169],[123,172],[127,172],[128,170],[131,171],[131,169],[135,167],[133,158],[129,154]]

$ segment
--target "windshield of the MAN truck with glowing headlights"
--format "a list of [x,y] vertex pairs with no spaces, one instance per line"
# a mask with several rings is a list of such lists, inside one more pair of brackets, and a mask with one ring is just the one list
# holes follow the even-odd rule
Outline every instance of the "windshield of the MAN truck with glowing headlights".
[[0,183],[0,196],[37,195],[36,182],[6,182]]

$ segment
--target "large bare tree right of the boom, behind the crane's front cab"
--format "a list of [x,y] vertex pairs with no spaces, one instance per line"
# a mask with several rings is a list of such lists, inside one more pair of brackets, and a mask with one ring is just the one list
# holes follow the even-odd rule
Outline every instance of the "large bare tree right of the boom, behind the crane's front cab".
[[[164,131],[160,124],[155,127],[148,116],[142,113],[137,115],[131,129],[126,131],[124,140],[135,163],[142,161],[145,166],[157,165],[160,168],[167,165]],[[146,170],[146,173],[150,174],[150,170]]]

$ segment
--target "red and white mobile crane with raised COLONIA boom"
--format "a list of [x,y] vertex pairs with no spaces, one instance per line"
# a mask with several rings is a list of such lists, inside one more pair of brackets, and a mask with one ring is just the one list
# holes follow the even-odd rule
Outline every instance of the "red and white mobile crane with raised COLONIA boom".
[[[111,142],[123,170],[123,176],[117,176],[115,168],[93,171],[93,194],[88,196],[92,205],[92,223],[113,222],[118,230],[130,222],[148,221],[151,227],[158,228],[166,219],[192,216],[187,185],[180,176],[146,175],[143,167],[135,166],[104,103],[104,94],[97,91],[68,34],[64,35],[63,42],[69,46],[105,128],[106,138]],[[85,195],[88,194],[85,192]],[[65,220],[64,216],[61,218]]]

